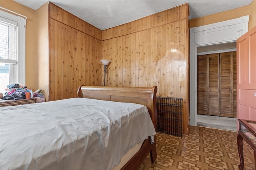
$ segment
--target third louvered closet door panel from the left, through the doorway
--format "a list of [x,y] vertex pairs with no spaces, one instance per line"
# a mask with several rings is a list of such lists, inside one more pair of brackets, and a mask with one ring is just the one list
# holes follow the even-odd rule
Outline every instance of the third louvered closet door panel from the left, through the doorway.
[[230,52],[220,53],[220,116],[223,117],[232,117],[231,58]]

